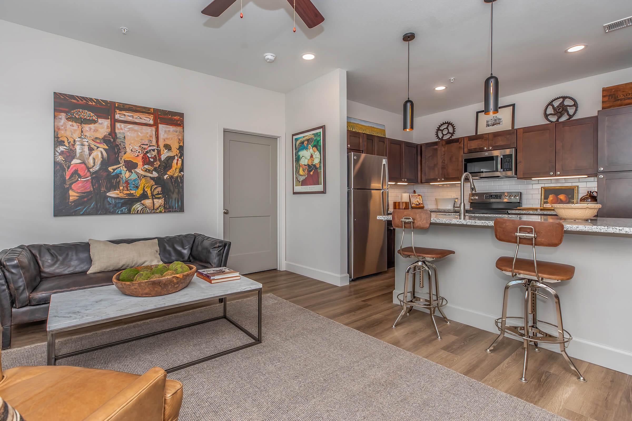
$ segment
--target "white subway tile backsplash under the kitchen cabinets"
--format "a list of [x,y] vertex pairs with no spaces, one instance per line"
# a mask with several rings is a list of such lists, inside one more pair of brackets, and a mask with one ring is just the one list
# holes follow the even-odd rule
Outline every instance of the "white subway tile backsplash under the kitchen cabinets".
[[[470,185],[466,183],[466,197],[470,193]],[[535,207],[540,206],[540,192],[543,186],[578,186],[579,197],[586,194],[586,191],[594,191],[597,189],[597,177],[586,177],[581,179],[554,179],[554,180],[518,180],[518,179],[499,179],[499,180],[475,180],[474,184],[477,191],[520,191],[522,193],[522,206]],[[423,205],[426,208],[436,208],[436,198],[458,198],[459,184],[415,184],[415,185],[389,185],[389,205],[393,208],[394,201],[401,201],[402,193],[421,194]],[[469,207],[466,201],[466,206]]]

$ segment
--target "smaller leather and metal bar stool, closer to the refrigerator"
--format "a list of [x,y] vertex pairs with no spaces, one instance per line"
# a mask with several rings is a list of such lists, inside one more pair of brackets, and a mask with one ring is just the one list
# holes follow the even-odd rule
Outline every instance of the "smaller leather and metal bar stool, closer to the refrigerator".
[[[413,230],[425,230],[430,227],[430,211],[423,209],[396,209],[392,213],[392,225],[394,228],[403,228],[401,234],[401,241],[399,242],[398,253],[406,259],[415,258],[415,263],[410,264],[406,269],[406,276],[404,278],[404,292],[398,294],[399,304],[402,307],[401,313],[397,317],[395,323],[393,323],[393,329],[398,323],[399,319],[406,313],[406,316],[410,315],[413,307],[422,307],[430,311],[430,317],[432,318],[432,324],[434,324],[435,331],[437,331],[437,339],[441,340],[439,334],[439,328],[437,328],[437,322],[435,321],[435,311],[439,310],[441,316],[447,324],[450,321],[447,319],[446,314],[441,307],[447,304],[447,300],[439,295],[439,282],[437,281],[437,267],[430,263],[435,259],[441,259],[450,254],[454,254],[452,250],[445,249],[429,249],[427,247],[415,247],[415,235]],[[411,247],[402,247],[404,243],[404,235],[406,235],[406,227],[410,227]],[[432,270],[431,270],[432,269]],[[419,287],[423,288],[423,272],[428,272],[428,292],[416,292],[415,291],[415,273],[420,273]],[[432,273],[434,273],[434,291],[432,287]],[[410,290],[408,289],[410,275],[413,275],[413,280],[410,282]],[[427,295],[428,298],[418,297],[417,295]]]

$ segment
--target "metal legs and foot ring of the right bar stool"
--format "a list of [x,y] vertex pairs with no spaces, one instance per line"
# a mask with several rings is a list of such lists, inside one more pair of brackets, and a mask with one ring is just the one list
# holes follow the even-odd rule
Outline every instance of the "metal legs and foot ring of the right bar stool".
[[[512,285],[518,285],[518,284],[522,285],[525,288],[525,313],[523,317],[507,317],[507,299],[509,295],[509,287],[511,287]],[[536,296],[540,295],[541,297],[544,297],[545,299],[549,299],[549,297],[538,292],[540,288],[549,292],[549,294],[552,295],[555,301],[557,325],[537,319]],[[530,314],[532,315],[531,323],[530,323],[530,317],[529,317]],[[507,319],[518,319],[521,322],[523,322],[523,324],[522,326],[507,326]],[[537,326],[538,322],[557,328],[557,336],[550,335],[549,333],[542,331]],[[525,278],[507,282],[507,285],[505,285],[504,297],[502,299],[502,317],[499,317],[498,319],[496,319],[495,323],[500,333],[497,336],[497,338],[494,340],[494,342],[492,342],[492,345],[490,345],[485,350],[485,352],[492,352],[495,345],[497,345],[497,343],[502,339],[505,333],[508,333],[509,335],[512,335],[512,336],[515,336],[516,338],[521,339],[523,341],[523,348],[525,352],[523,372],[522,372],[522,377],[520,377],[521,382],[524,382],[524,383],[528,382],[528,380],[526,379],[526,369],[527,369],[528,359],[529,359],[529,343],[530,342],[533,342],[533,345],[535,345],[536,352],[540,352],[540,348],[538,347],[539,342],[559,344],[559,350],[562,353],[562,356],[564,357],[566,362],[568,362],[568,365],[571,367],[571,369],[573,369],[573,371],[577,374],[577,379],[582,382],[586,381],[586,379],[583,376],[581,376],[580,371],[577,369],[573,361],[568,356],[568,353],[566,353],[566,346],[569,343],[569,341],[573,339],[573,336],[571,336],[568,333],[568,331],[564,329],[562,325],[562,309],[559,303],[559,295],[557,295],[556,290],[549,287],[549,285],[546,285],[544,283],[541,283],[535,280],[525,279]]]

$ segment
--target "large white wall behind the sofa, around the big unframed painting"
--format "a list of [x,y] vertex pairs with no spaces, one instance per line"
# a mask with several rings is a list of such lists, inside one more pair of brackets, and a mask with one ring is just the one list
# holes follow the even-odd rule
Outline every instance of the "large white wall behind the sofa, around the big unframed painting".
[[[282,93],[2,20],[0,39],[5,40],[0,43],[3,146],[0,216],[4,221],[0,249],[37,242],[186,232],[217,236],[218,224],[222,221],[217,212],[221,206],[222,186],[218,177],[222,163],[219,152],[222,130],[237,129],[284,139],[285,97]],[[54,218],[53,92],[183,112],[185,213]],[[335,137],[332,133],[331,138]],[[329,154],[330,157],[335,155],[335,151]],[[335,187],[337,175],[331,174],[329,186]]]

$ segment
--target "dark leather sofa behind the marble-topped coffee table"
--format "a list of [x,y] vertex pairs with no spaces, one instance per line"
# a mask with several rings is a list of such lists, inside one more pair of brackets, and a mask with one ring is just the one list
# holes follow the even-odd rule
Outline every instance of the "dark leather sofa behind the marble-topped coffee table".
[[[202,234],[154,237],[163,262],[182,261],[198,269],[226,266],[231,243]],[[145,239],[110,240],[131,243]],[[0,251],[0,324],[2,348],[11,346],[11,326],[46,320],[51,294],[112,285],[117,271],[86,273],[92,266],[90,244],[31,244]]]

